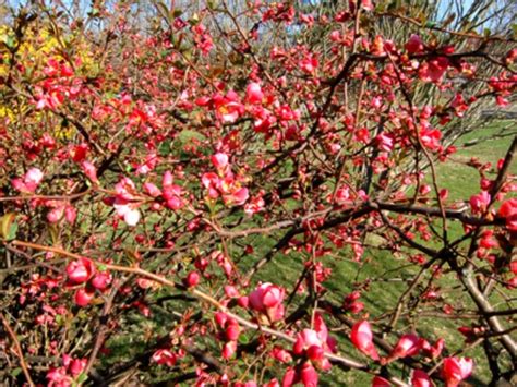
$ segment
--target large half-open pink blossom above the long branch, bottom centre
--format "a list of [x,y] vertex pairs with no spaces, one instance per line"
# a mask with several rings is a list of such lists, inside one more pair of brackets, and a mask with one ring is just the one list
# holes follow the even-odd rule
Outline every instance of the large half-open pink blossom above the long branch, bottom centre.
[[284,318],[285,289],[272,283],[262,283],[250,293],[250,306],[267,316],[269,322]]

